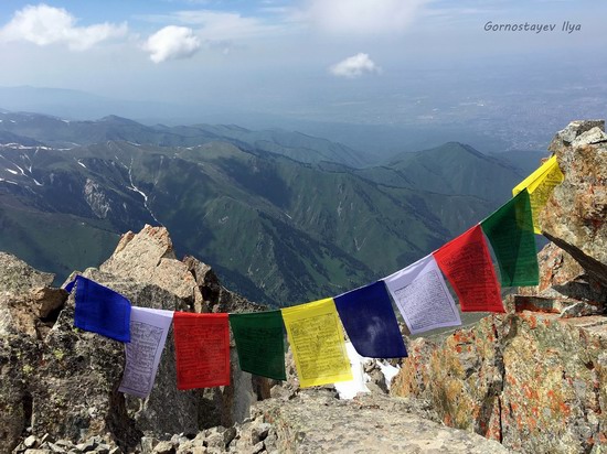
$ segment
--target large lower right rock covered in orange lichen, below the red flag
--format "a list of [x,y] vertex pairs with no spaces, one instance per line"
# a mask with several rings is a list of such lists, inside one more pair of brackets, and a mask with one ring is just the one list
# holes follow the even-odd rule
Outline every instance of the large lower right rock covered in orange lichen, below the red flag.
[[606,346],[604,316],[486,317],[439,344],[413,340],[391,392],[517,451],[584,453],[607,429]]

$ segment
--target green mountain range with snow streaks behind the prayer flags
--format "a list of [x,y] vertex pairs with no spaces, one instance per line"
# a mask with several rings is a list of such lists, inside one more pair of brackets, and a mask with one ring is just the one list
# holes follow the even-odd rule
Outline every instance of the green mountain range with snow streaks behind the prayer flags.
[[[284,130],[0,114],[0,250],[63,279],[164,225],[252,300],[290,305],[381,279],[510,197],[533,159],[458,142],[369,154]],[[517,162],[523,162],[518,165]]]

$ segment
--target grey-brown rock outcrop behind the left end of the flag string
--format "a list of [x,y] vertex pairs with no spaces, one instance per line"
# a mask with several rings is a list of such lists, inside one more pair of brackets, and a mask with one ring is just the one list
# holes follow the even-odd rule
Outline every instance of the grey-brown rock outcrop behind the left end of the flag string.
[[[195,435],[205,428],[231,426],[248,415],[253,402],[269,397],[269,381],[241,371],[235,360],[232,386],[178,391],[172,333],[150,397],[118,392],[123,344],[74,329],[74,298],[51,288],[51,274],[8,255],[0,260],[0,452],[10,452],[26,428],[33,435],[75,443],[102,436],[128,451],[146,433]],[[99,269],[82,274],[143,307],[262,309],[224,289],[204,263],[177,260],[164,228],[126,234]]]

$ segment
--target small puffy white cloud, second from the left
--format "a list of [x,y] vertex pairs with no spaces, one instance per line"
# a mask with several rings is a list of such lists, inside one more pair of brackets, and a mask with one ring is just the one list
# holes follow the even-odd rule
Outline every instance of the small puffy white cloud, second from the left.
[[161,63],[191,57],[199,51],[200,40],[192,29],[169,25],[148,37],[145,48],[153,63]]

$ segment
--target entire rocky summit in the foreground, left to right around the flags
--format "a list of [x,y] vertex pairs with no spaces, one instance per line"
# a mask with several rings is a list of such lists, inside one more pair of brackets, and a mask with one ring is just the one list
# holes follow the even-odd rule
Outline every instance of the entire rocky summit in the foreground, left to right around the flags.
[[[607,444],[607,136],[576,121],[550,150],[565,181],[540,215],[552,240],[540,285],[471,327],[407,338],[386,386],[341,400],[243,372],[232,385],[177,390],[169,333],[147,399],[118,392],[124,345],[74,328],[74,296],[53,275],[0,253],[0,453],[600,453]],[[79,271],[142,307],[194,313],[264,306],[225,289],[196,258],[175,257],[166,228],[123,235]],[[73,274],[74,275],[74,274]],[[390,389],[388,389],[390,388]]]

